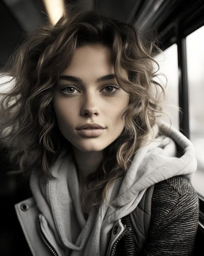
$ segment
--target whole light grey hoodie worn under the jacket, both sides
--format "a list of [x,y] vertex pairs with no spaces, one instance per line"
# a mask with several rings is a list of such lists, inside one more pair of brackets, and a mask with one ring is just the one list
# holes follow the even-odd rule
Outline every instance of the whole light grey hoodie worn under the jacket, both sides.
[[110,188],[108,203],[103,202],[97,214],[91,210],[87,221],[81,213],[77,171],[70,157],[60,155],[52,167],[56,180],[43,183],[37,175],[31,176],[41,228],[50,243],[59,246],[58,251],[72,256],[105,255],[114,222],[137,207],[149,186],[176,175],[193,175],[197,162],[191,141],[165,124],[161,128],[163,135],[135,153],[124,179]]

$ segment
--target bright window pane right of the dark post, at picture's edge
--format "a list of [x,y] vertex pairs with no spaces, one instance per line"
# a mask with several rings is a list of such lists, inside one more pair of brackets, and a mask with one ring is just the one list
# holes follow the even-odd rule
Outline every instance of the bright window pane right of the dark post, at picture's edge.
[[186,37],[189,85],[190,139],[195,146],[197,171],[193,186],[204,196],[204,26]]

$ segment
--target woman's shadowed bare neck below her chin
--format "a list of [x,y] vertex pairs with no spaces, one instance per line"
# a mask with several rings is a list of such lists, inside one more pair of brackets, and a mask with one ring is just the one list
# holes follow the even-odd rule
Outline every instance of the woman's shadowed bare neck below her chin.
[[78,178],[84,181],[88,175],[94,173],[101,160],[103,159],[103,151],[99,152],[82,152],[78,148],[73,148],[75,160],[77,164]]

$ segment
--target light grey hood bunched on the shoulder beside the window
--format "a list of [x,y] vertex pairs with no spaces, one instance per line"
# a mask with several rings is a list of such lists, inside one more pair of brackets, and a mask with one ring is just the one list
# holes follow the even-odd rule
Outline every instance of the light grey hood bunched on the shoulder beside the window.
[[122,218],[132,212],[149,186],[177,175],[185,175],[190,180],[195,173],[197,161],[191,141],[177,129],[167,129],[166,124],[161,124],[160,128],[163,135],[134,155],[118,193],[110,203],[118,209],[110,219]]

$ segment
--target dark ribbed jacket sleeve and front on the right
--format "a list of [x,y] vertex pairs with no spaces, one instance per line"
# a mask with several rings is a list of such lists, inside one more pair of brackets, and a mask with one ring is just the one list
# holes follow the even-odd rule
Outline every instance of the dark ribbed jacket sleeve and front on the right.
[[198,226],[199,203],[195,190],[182,176],[155,184],[149,234],[138,252],[129,215],[122,218],[130,232],[115,245],[115,256],[190,256]]

